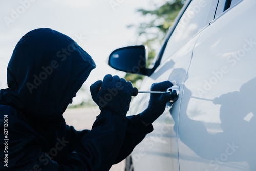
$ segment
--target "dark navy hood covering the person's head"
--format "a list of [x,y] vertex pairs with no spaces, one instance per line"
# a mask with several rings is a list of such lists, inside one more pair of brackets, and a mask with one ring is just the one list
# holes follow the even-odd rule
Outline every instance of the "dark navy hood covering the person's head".
[[38,121],[60,121],[95,67],[91,56],[70,37],[48,28],[32,30],[13,51],[8,88],[0,90],[0,104]]

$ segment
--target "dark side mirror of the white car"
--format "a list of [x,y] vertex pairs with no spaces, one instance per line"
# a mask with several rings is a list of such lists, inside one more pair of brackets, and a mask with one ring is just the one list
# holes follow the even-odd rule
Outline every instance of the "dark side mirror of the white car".
[[128,46],[114,50],[108,64],[119,71],[148,75],[146,69],[147,51],[144,45]]

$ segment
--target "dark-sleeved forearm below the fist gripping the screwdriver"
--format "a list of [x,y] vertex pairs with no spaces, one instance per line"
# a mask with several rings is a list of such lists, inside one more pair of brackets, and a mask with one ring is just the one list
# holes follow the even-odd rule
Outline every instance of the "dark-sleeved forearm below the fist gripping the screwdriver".
[[109,170],[122,146],[126,119],[111,111],[102,111],[93,124],[92,130],[84,135],[81,143],[66,159],[66,166],[74,170]]

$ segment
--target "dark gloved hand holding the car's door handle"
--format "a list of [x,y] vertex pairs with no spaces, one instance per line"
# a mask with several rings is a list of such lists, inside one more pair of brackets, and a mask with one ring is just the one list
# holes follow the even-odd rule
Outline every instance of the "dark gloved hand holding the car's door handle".
[[[166,91],[173,84],[170,81],[152,84],[151,91]],[[165,110],[166,103],[176,96],[176,91],[172,93],[150,94],[150,102],[147,109],[140,113],[141,119],[146,123],[153,123]]]

